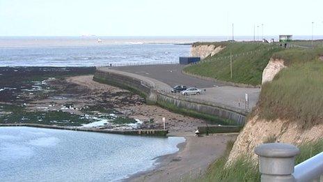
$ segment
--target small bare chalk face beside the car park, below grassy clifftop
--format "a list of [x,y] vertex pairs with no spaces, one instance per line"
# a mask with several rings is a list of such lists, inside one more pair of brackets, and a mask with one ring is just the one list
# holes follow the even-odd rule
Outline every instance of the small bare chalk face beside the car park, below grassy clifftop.
[[270,59],[264,72],[262,73],[262,84],[265,82],[271,82],[275,75],[285,68],[284,61],[281,59]]

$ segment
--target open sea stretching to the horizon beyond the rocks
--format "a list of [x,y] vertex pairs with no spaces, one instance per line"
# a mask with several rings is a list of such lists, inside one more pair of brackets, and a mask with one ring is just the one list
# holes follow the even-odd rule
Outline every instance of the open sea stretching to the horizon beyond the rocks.
[[[315,39],[323,36],[315,36]],[[265,36],[267,40],[278,36]],[[311,36],[294,36],[310,40]],[[0,66],[125,66],[178,63],[194,42],[215,42],[230,36],[203,37],[0,37]],[[235,36],[237,41],[253,36]],[[259,36],[255,40],[260,40]]]

